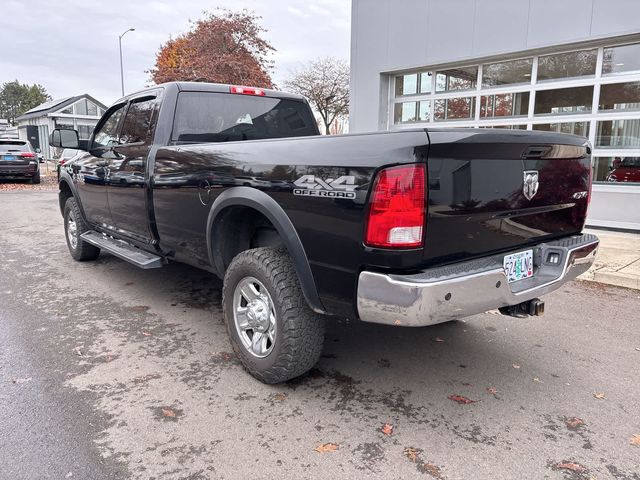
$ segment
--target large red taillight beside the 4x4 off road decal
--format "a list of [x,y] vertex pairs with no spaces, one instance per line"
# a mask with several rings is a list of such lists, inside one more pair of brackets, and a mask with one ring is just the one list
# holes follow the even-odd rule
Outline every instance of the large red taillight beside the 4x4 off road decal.
[[424,226],[424,165],[381,170],[373,183],[364,243],[381,248],[422,247]]

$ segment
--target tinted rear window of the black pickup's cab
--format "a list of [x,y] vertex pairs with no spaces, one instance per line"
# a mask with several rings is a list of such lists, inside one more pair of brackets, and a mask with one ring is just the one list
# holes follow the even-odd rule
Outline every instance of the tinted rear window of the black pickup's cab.
[[300,100],[216,92],[180,92],[173,145],[318,135]]

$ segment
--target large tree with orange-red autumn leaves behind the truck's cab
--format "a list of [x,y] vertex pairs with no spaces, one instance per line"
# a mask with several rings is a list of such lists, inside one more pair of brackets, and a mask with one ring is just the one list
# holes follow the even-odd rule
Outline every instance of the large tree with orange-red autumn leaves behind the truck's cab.
[[260,19],[247,10],[205,12],[188,32],[160,48],[151,79],[273,87],[268,57],[275,49],[262,38]]

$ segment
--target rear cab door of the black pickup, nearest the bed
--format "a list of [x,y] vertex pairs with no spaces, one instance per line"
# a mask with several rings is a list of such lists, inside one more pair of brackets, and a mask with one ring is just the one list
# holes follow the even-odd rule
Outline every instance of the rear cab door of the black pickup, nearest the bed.
[[107,178],[108,201],[116,231],[151,243],[147,163],[160,99],[145,94],[129,101]]

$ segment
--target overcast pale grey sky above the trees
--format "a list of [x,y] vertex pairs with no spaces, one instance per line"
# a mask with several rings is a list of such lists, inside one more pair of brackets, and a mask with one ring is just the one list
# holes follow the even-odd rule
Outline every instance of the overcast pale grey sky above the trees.
[[122,39],[132,92],[149,83],[160,45],[218,6],[263,17],[276,83],[319,56],[349,59],[350,0],[2,0],[0,84],[40,83],[53,98],[88,93],[109,105],[120,97],[118,35],[136,29]]

